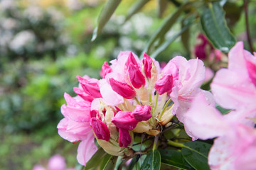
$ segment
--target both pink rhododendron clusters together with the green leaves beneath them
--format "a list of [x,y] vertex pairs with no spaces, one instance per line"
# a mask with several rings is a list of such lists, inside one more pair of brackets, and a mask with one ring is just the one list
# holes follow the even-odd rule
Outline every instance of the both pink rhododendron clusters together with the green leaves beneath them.
[[[177,56],[160,67],[146,53],[139,60],[124,51],[100,74],[100,80],[77,77],[77,96],[64,95],[58,124],[61,137],[80,141],[77,159],[87,169],[127,166],[129,159],[130,168],[141,169],[159,169],[161,162],[255,169],[256,57],[242,42],[228,53],[228,68],[218,70],[210,92],[200,89],[206,67],[198,58]],[[198,141],[214,137],[213,145]]]

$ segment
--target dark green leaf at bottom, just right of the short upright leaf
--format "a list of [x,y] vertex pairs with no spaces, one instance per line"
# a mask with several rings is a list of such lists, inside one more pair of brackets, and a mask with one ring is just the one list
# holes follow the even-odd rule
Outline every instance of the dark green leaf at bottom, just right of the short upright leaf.
[[169,166],[174,166],[178,169],[193,169],[183,158],[181,152],[177,150],[162,149],[159,150],[161,154],[161,162]]

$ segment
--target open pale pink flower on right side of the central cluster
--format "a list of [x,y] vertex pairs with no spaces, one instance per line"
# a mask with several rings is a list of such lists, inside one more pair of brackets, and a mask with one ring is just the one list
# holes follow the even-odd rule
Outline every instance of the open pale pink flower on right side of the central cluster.
[[183,113],[188,111],[196,94],[202,91],[199,88],[205,78],[206,68],[198,59],[187,61],[184,57],[174,57],[170,62],[174,62],[178,68],[178,75],[170,94],[171,100],[174,101],[172,113],[176,114],[178,120],[183,122]]

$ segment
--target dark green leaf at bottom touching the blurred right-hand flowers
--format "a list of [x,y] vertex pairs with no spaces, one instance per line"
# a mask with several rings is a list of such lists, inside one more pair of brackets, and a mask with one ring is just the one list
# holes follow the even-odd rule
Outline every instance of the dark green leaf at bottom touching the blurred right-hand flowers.
[[194,169],[207,170],[208,166],[208,152],[211,145],[205,142],[186,142],[185,147],[181,149],[181,153]]

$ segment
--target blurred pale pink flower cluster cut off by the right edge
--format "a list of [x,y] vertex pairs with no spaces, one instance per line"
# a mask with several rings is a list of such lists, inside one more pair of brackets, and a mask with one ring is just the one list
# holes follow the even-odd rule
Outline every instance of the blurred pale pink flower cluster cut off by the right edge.
[[[214,140],[210,169],[256,167],[256,56],[238,42],[228,54],[228,69],[220,69],[211,84],[213,96],[198,94],[185,113],[184,125],[193,140]],[[230,109],[222,115],[215,101]]]

